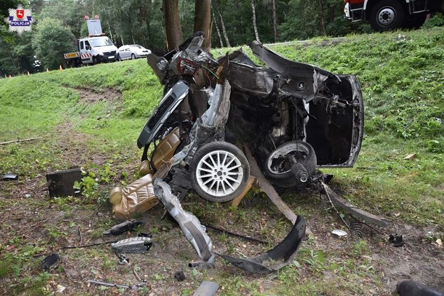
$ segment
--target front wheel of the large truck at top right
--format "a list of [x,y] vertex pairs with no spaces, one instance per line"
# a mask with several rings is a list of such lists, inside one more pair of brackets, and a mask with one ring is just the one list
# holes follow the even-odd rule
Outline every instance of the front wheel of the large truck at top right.
[[398,1],[384,0],[373,6],[370,11],[370,25],[375,31],[390,31],[401,28],[406,12]]

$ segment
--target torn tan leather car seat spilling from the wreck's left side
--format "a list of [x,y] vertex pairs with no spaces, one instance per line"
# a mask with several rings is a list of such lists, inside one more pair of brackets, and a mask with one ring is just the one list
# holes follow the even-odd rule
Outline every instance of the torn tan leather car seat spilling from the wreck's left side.
[[[180,144],[179,128],[174,128],[168,136],[162,139],[151,157],[156,170],[163,162],[170,160],[175,149]],[[150,161],[144,160],[139,166],[139,172],[144,177],[132,182],[124,188],[115,187],[109,195],[113,204],[114,219],[130,219],[134,214],[142,214],[158,204],[153,190],[153,170]]]

